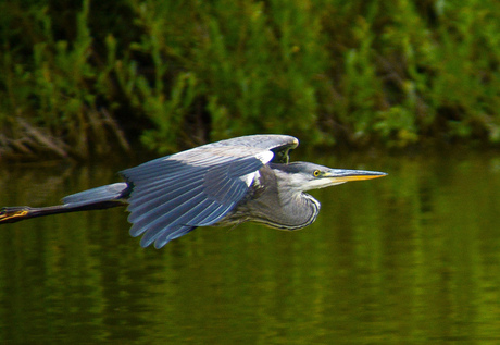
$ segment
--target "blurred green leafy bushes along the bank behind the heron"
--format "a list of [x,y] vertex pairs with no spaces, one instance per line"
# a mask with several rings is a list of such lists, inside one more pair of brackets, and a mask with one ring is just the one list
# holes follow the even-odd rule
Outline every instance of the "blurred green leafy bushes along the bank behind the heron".
[[1,0],[0,156],[500,143],[496,0]]

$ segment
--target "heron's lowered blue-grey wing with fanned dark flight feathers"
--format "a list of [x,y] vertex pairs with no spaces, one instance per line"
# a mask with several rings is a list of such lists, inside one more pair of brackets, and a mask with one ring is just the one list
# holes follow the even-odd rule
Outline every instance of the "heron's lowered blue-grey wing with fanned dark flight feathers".
[[[122,172],[133,186],[130,235],[157,248],[197,226],[217,223],[245,197],[259,171],[298,140],[252,135],[200,146]],[[285,152],[285,153],[283,153]]]

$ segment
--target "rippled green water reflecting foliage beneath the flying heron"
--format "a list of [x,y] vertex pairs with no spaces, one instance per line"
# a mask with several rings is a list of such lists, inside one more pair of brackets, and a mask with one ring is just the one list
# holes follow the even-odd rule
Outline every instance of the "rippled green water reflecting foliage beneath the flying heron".
[[[309,160],[389,176],[314,192],[299,232],[198,229],[162,250],[121,209],[1,226],[0,343],[500,343],[500,156]],[[126,167],[3,164],[0,204]]]

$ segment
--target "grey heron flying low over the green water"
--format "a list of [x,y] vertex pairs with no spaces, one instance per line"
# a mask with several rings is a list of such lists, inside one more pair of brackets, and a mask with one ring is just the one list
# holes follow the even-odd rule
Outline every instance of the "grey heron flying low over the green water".
[[126,207],[129,233],[157,249],[203,226],[243,222],[295,231],[312,224],[320,202],[308,190],[387,175],[290,162],[299,140],[255,134],[202,145],[121,171],[124,181],[79,192],[49,207],[4,207],[0,224],[49,214]]

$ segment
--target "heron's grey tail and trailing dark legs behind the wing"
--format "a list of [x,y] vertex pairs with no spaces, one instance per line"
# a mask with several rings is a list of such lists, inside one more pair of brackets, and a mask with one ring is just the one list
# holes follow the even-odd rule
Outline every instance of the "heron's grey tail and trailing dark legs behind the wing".
[[0,224],[15,223],[29,218],[58,213],[102,210],[125,206],[129,186],[126,183],[115,183],[84,190],[63,198],[62,205],[48,207],[14,206],[0,209]]

